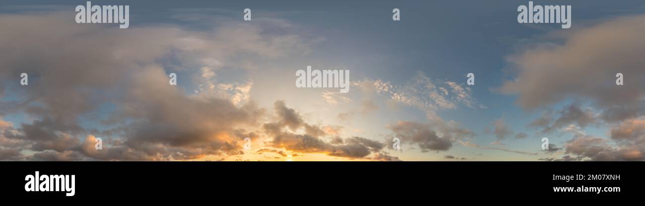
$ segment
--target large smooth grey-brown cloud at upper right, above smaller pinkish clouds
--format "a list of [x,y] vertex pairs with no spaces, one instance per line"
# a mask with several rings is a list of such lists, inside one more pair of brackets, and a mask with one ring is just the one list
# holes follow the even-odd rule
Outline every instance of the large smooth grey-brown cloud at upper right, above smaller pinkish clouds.
[[[635,118],[645,111],[644,33],[645,15],[633,15],[550,34],[557,38],[508,57],[517,77],[499,91],[519,95],[519,105],[527,109],[583,98],[601,108],[600,117],[606,121]],[[615,85],[619,72],[625,85]]]

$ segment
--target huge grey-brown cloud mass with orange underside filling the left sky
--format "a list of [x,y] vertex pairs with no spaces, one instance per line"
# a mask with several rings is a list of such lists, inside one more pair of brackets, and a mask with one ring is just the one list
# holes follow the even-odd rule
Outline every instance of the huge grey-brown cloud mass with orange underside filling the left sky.
[[[218,72],[252,67],[240,59],[310,51],[310,41],[295,32],[267,32],[284,26],[268,19],[253,25],[220,22],[204,30],[174,25],[119,30],[76,24],[68,17],[67,12],[0,17],[0,26],[12,28],[0,36],[0,52],[10,54],[0,56],[0,95],[17,99],[3,101],[0,114],[35,119],[17,127],[0,122],[0,143],[15,147],[0,145],[3,159],[21,158],[23,150],[35,152],[29,160],[190,160],[241,154],[244,137],[259,138],[253,129],[266,118],[264,108],[250,99],[252,81],[224,82],[217,79]],[[28,87],[7,83],[23,72],[29,74]],[[170,72],[180,76],[180,84],[181,79],[194,81],[168,85]],[[292,110],[281,112],[283,124],[302,125]],[[85,119],[105,130],[81,126]],[[103,150],[90,149],[94,132],[117,140]]]

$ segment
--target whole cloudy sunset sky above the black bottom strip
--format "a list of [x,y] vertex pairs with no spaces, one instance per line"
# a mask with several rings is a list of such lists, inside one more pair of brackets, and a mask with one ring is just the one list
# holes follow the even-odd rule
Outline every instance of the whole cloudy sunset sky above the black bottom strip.
[[0,3],[0,160],[645,160],[643,1],[85,2]]

